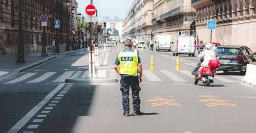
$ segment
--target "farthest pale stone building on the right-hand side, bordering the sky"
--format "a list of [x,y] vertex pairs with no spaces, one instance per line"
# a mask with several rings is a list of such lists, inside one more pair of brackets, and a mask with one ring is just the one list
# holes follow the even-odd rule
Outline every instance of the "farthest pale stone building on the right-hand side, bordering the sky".
[[153,0],[134,0],[123,20],[123,39],[151,40],[153,16]]

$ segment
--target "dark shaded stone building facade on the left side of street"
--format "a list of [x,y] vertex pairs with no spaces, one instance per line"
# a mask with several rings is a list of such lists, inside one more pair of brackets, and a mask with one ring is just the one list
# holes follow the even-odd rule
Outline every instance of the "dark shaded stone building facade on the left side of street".
[[[17,52],[19,30],[19,0],[0,0],[0,54]],[[41,49],[42,26],[40,16],[46,14],[49,17],[46,27],[47,45],[50,47],[51,35],[57,37],[54,29],[54,20],[60,20],[58,30],[59,45],[66,45],[68,11],[65,0],[23,0],[22,1],[22,25],[23,40],[26,51]]]

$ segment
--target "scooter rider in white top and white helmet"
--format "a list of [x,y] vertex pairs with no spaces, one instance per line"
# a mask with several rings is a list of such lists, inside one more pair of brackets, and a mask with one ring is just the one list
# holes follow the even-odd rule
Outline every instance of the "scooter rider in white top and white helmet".
[[204,61],[202,62],[201,67],[198,70],[199,77],[200,77],[200,72],[202,68],[204,66],[208,66],[210,60],[216,60],[216,54],[211,49],[212,49],[212,44],[207,42],[205,44],[205,50],[202,52],[202,54],[198,56],[200,58],[204,58]]

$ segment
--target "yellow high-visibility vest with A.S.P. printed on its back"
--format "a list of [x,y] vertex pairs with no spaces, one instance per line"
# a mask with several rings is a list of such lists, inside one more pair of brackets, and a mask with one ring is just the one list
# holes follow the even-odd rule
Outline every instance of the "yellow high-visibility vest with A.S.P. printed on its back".
[[137,76],[138,72],[138,52],[121,51],[118,54],[119,74]]

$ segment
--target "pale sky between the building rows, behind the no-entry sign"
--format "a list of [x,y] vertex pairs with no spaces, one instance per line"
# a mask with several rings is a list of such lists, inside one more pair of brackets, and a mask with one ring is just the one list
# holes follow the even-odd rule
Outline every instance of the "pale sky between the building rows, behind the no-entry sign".
[[[98,10],[98,16],[110,16],[113,18],[114,16],[118,16],[119,18],[124,18],[125,13],[130,8],[133,0],[94,0],[93,5]],[[78,3],[78,11],[83,14],[83,16],[87,16],[84,9],[88,4],[90,4],[90,0],[77,0]]]

